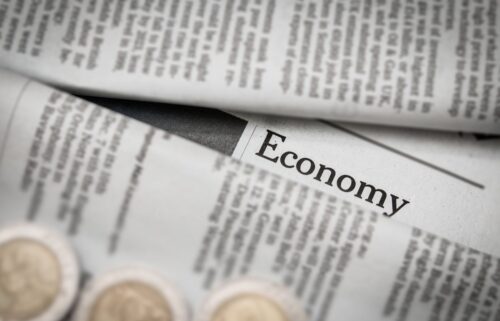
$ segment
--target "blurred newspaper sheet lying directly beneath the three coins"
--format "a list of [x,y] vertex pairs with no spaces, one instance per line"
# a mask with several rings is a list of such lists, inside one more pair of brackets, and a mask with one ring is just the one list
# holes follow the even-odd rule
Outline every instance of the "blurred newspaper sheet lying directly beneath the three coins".
[[310,320],[500,318],[497,257],[8,72],[0,108],[0,223],[65,232],[89,275],[148,264],[195,308],[245,275]]

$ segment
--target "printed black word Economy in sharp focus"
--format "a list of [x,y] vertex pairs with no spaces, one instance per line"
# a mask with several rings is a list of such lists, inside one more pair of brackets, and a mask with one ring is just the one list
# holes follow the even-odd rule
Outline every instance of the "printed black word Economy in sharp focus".
[[363,181],[358,182],[350,175],[337,175],[337,172],[332,167],[317,164],[312,159],[300,157],[293,151],[280,153],[277,151],[278,143],[272,143],[274,138],[276,139],[275,142],[278,140],[285,142],[286,140],[285,136],[267,130],[266,138],[260,150],[255,154],[273,163],[281,164],[285,168],[296,169],[300,174],[311,176],[319,182],[330,186],[335,185],[342,192],[353,193],[355,197],[383,208],[385,216],[391,217],[395,215],[410,203],[408,200],[391,193],[387,197],[388,193],[385,190]]

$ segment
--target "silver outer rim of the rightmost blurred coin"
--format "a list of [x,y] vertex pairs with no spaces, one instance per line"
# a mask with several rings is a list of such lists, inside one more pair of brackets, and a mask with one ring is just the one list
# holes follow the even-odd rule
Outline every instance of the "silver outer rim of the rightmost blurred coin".
[[288,321],[306,321],[299,302],[285,287],[259,278],[241,278],[222,284],[208,294],[197,312],[197,321],[212,321],[218,309],[227,301],[241,295],[259,295],[274,302]]

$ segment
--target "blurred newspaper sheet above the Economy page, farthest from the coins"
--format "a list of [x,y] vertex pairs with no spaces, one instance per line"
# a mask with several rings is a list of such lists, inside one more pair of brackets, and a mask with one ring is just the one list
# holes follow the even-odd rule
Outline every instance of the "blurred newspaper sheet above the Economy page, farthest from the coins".
[[500,133],[498,0],[0,1],[0,66],[88,93]]

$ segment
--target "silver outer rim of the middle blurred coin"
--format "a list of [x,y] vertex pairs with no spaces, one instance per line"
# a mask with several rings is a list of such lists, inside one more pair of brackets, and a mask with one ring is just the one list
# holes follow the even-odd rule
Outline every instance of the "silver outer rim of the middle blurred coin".
[[88,321],[97,298],[110,287],[123,282],[139,282],[153,287],[164,297],[174,321],[190,320],[187,303],[171,282],[150,269],[126,267],[105,272],[88,282],[82,291],[72,321]]

